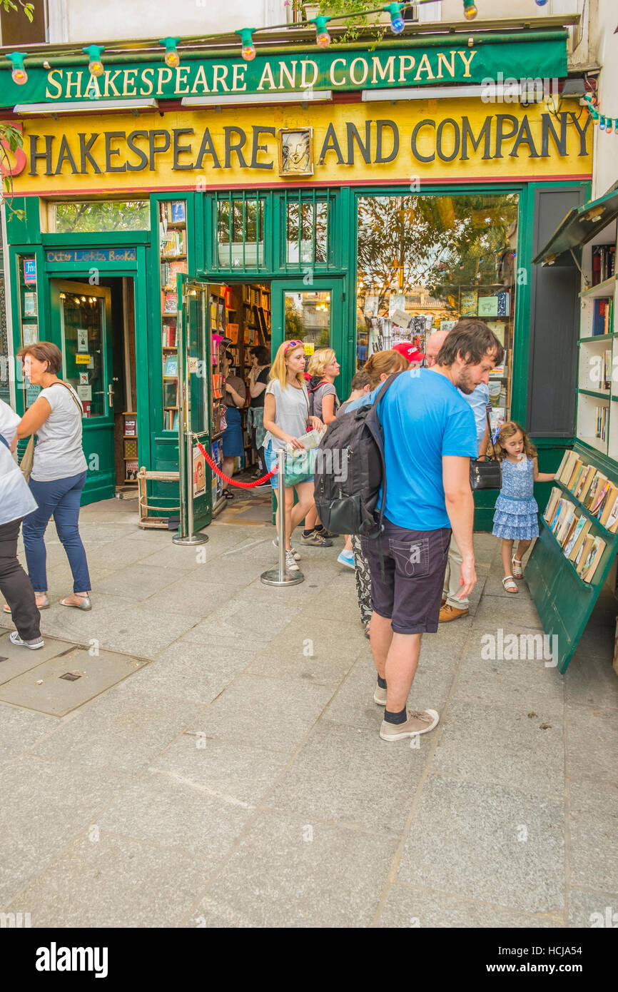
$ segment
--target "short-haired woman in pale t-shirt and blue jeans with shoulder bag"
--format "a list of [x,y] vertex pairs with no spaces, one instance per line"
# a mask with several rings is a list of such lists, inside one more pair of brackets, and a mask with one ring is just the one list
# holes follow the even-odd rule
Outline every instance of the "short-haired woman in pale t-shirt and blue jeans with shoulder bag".
[[[55,344],[29,344],[18,351],[18,356],[25,377],[34,386],[42,386],[13,442],[16,446],[19,437],[37,435],[30,490],[39,508],[25,518],[22,528],[37,606],[47,609],[50,605],[44,535],[53,516],[73,576],[73,593],[61,599],[61,606],[89,610],[90,576],[78,529],[79,501],[87,469],[81,446],[81,403],[72,387],[58,378],[62,354]],[[34,437],[31,445],[34,446]]]

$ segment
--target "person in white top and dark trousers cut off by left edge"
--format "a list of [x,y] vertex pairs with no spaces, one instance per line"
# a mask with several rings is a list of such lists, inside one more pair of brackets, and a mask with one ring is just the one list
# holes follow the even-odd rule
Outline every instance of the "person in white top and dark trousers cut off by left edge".
[[11,644],[36,651],[45,645],[39,627],[41,614],[32,582],[17,558],[22,520],[37,509],[37,501],[10,451],[20,419],[0,400],[0,592],[17,627],[9,635]]

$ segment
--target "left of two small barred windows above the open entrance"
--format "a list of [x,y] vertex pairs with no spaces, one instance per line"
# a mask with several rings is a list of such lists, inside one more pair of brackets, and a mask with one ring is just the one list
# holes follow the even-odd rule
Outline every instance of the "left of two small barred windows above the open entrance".
[[217,261],[221,269],[264,266],[264,199],[215,193]]

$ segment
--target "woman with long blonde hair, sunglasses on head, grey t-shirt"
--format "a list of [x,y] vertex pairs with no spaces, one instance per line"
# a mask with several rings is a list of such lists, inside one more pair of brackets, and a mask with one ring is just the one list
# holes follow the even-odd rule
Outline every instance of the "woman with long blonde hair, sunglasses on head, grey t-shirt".
[[[264,398],[264,451],[268,471],[277,468],[280,448],[288,444],[303,449],[302,438],[308,426],[321,427],[317,417],[309,416],[309,392],[305,382],[305,345],[303,341],[285,341],[278,348],[271,366],[271,374]],[[278,492],[277,475],[273,475],[271,485],[277,495],[277,515],[282,497]],[[298,503],[294,504],[296,489]],[[298,554],[292,548],[292,532],[305,520],[313,506],[313,476],[307,475],[294,486],[286,486],[284,491],[286,514],[286,567],[298,571]],[[277,544],[277,541],[274,542]]]

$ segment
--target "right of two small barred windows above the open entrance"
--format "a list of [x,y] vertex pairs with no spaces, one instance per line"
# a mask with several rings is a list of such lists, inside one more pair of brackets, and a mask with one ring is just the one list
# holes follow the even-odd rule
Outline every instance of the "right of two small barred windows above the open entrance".
[[326,265],[329,261],[330,199],[299,191],[284,194],[286,264]]

